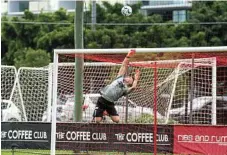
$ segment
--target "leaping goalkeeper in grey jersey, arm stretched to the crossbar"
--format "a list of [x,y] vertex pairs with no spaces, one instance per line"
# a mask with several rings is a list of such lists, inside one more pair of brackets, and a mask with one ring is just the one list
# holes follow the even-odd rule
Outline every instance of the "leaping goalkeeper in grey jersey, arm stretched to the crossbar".
[[103,113],[107,112],[113,122],[118,123],[120,117],[115,108],[114,102],[124,95],[132,92],[138,83],[140,71],[137,70],[134,78],[127,76],[129,59],[135,54],[135,50],[131,50],[122,62],[122,66],[118,72],[116,79],[101,90],[101,97],[98,98],[94,113],[93,121],[99,123],[102,121]]

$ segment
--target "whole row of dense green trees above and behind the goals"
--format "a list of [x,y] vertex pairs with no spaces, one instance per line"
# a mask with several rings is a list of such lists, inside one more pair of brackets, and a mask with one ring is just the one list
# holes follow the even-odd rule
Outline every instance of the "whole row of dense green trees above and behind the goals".
[[[165,24],[159,14],[144,16],[140,13],[141,3],[132,5],[133,14],[125,17],[121,14],[122,6],[123,4],[120,3],[111,5],[108,2],[103,2],[103,5],[97,4],[97,22],[116,25],[96,25],[95,31],[92,31],[87,24],[91,22],[91,10],[85,12],[85,48],[227,45],[226,24],[201,24],[201,22],[227,22],[227,2],[193,1],[188,22],[196,24],[185,22],[175,25],[167,25],[171,24],[171,21]],[[33,22],[35,24],[31,24]],[[125,25],[117,25],[118,23]],[[143,23],[155,24],[151,26]],[[35,51],[42,49],[52,56],[53,49],[74,48],[74,13],[59,9],[53,13],[41,12],[38,15],[25,11],[22,17],[3,16],[1,32],[3,64],[13,65],[15,60],[21,60],[21,55],[18,53],[23,53],[22,56],[25,56],[22,51],[29,48]]]

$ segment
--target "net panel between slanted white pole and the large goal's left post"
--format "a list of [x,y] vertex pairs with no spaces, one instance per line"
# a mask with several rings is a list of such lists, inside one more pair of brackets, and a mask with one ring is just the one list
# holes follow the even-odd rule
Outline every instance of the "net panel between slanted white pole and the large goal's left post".
[[[20,68],[18,79],[27,121],[42,121],[48,109],[49,68]],[[51,105],[51,104],[50,104]],[[49,106],[50,106],[49,105]],[[49,114],[46,116],[49,117]],[[49,120],[49,118],[46,118]]]

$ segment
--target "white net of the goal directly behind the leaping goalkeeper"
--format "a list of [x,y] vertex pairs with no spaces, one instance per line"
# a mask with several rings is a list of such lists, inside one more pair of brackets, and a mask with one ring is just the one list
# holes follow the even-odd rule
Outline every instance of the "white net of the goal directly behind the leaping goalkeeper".
[[[94,56],[91,59],[96,58]],[[70,60],[71,58],[67,59]],[[103,60],[101,56],[98,59]],[[168,123],[169,121],[187,123],[191,110],[193,114],[199,110],[203,110],[203,114],[211,113],[211,108],[204,108],[205,104],[208,103],[203,103],[203,100],[211,103],[215,97],[212,95],[212,82],[214,82],[212,81],[212,71],[215,69],[214,58],[195,59],[193,69],[191,59],[162,60],[157,61],[156,65],[157,116],[159,123]],[[70,122],[73,121],[75,103],[75,63],[61,62],[58,66],[57,120]],[[114,62],[84,63],[83,122],[91,122],[95,104],[100,96],[100,89],[110,84],[116,78],[120,66],[120,63]],[[128,74],[133,76],[136,69],[141,71],[137,89],[130,93],[127,99],[124,96],[120,98],[115,103],[115,106],[122,123],[125,122],[126,117],[128,123],[152,123],[155,76],[154,61],[132,61],[129,64]],[[191,86],[192,70],[194,72],[193,86]],[[213,78],[215,78],[214,75]],[[190,109],[191,89],[193,89],[195,98],[192,100],[195,102],[192,109]],[[111,122],[108,118],[106,121]],[[211,120],[211,115],[208,118],[205,115],[196,114],[193,119],[194,123],[198,124],[210,124]]]

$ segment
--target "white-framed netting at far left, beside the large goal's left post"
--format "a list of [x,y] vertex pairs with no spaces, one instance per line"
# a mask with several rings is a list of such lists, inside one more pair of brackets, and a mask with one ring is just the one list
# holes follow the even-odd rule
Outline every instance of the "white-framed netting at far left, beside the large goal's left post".
[[41,122],[51,107],[51,79],[49,68],[1,66],[2,120]]

